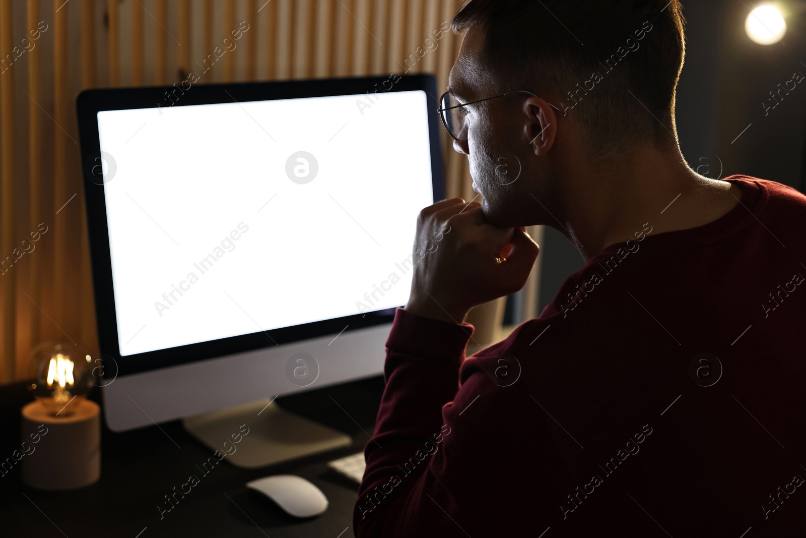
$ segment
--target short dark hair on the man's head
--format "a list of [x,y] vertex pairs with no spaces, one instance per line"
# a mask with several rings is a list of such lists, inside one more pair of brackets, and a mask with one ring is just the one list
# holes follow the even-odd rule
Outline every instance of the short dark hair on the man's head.
[[596,158],[676,142],[682,9],[679,0],[468,0],[452,27],[484,28],[496,90],[555,95]]

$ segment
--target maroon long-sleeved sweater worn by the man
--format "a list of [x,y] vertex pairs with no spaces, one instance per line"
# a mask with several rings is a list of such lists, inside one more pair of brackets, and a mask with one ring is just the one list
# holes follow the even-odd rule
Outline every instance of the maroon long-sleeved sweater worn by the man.
[[356,536],[806,536],[806,197],[725,181],[467,360],[398,309]]

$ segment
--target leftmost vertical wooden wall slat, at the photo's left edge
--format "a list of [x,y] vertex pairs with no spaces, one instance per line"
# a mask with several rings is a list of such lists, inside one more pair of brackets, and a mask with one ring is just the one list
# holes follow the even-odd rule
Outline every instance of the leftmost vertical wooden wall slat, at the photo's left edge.
[[[0,0],[0,51],[5,55],[14,48],[13,22],[14,13],[12,0]],[[0,248],[2,260],[6,256],[14,260],[12,250],[15,248],[15,106],[14,82],[15,65],[2,65],[6,69],[0,75]],[[6,271],[6,267],[0,269]],[[15,378],[16,365],[16,271],[12,266],[7,273],[0,276],[0,290],[2,290],[2,372],[3,379],[11,382]]]

